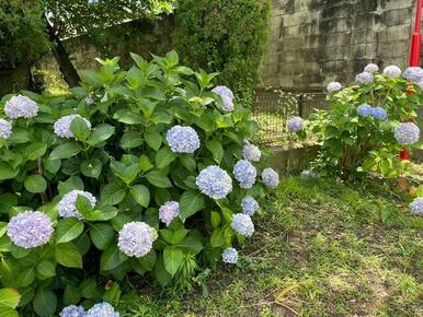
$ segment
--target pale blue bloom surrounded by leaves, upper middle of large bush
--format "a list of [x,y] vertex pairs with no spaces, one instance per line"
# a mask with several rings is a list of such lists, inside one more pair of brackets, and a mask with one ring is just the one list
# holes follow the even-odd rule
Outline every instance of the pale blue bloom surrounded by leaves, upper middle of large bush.
[[191,127],[174,126],[168,130],[165,139],[174,153],[194,153],[199,148],[198,134]]

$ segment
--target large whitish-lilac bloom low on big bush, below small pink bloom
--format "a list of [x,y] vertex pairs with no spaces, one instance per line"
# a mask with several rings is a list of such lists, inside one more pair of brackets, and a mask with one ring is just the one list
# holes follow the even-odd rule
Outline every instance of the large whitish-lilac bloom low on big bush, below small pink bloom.
[[157,238],[156,231],[145,222],[126,223],[118,233],[117,247],[128,257],[140,258],[147,255]]

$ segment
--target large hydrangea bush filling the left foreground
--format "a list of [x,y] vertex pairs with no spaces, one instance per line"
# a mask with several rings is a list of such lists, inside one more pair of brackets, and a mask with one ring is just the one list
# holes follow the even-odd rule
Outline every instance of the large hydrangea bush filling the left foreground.
[[81,71],[66,98],[0,102],[0,281],[24,312],[118,316],[119,291],[104,281],[186,285],[237,262],[255,199],[278,184],[248,141],[250,110],[214,89],[215,73],[174,51],[133,59],[127,71],[117,58]]

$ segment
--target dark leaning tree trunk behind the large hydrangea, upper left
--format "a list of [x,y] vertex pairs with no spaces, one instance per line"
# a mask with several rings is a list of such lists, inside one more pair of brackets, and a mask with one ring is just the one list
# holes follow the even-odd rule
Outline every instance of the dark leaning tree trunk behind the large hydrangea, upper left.
[[62,73],[65,81],[67,82],[69,87],[78,86],[81,79],[79,78],[78,72],[75,69],[64,44],[57,35],[55,28],[48,21],[46,21],[46,25],[48,30],[49,39],[54,43],[52,50],[57,60],[57,63],[59,64],[59,70]]

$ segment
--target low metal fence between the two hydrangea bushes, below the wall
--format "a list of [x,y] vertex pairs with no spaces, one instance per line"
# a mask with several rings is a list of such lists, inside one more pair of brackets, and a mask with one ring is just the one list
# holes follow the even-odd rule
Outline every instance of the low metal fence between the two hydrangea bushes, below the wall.
[[252,106],[253,119],[260,128],[256,142],[286,143],[293,138],[286,130],[290,117],[308,118],[313,109],[327,107],[322,91],[258,90]]

